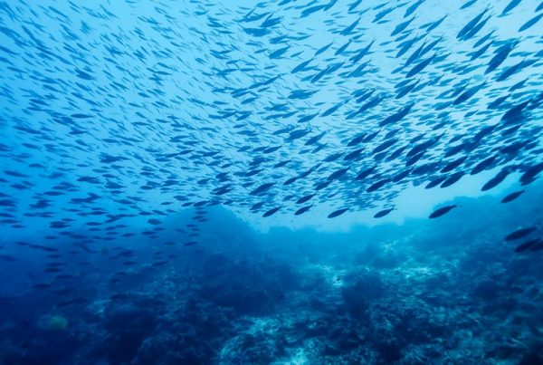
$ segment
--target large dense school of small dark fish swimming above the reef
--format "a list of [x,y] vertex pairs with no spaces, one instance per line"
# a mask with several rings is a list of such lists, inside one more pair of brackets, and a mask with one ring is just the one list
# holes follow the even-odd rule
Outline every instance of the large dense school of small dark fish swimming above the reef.
[[540,177],[543,2],[231,3],[0,2],[0,225],[90,250],[195,207],[196,245],[205,207],[380,218],[414,185],[517,174],[506,204]]

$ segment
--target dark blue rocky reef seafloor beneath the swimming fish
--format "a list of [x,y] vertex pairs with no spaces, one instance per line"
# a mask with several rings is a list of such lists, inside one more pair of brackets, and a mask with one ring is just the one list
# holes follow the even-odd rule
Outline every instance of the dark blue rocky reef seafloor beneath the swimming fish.
[[167,233],[55,253],[19,243],[28,262],[2,270],[27,286],[1,298],[0,362],[542,363],[541,252],[503,241],[541,207],[461,204],[470,216],[348,233],[259,234],[200,209],[194,246]]

